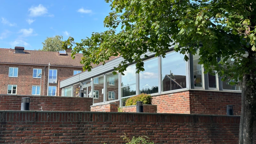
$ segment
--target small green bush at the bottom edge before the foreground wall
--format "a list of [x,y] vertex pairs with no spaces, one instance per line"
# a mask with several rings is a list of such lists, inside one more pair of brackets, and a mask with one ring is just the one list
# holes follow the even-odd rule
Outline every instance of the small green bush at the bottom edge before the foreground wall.
[[122,136],[126,144],[154,144],[153,141],[149,141],[147,136],[139,136],[138,138],[132,137],[130,140],[126,135]]

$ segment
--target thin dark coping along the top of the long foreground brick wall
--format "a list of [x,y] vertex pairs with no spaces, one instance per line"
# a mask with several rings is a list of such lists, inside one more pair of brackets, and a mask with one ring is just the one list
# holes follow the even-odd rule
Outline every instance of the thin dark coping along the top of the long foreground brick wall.
[[22,112],[22,113],[31,113],[31,112],[40,112],[40,113],[108,113],[108,114],[145,114],[145,115],[168,115],[168,116],[221,116],[221,117],[240,117],[237,115],[202,115],[202,114],[170,114],[170,113],[137,113],[137,112],[100,112],[100,111],[36,111],[36,110],[0,110],[1,112]]

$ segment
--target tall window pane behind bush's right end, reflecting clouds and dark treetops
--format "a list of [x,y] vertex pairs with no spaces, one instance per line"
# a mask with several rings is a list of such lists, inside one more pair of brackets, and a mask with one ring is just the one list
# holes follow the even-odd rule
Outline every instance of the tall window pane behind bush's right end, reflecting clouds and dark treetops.
[[144,69],[139,74],[140,93],[158,93],[158,58],[144,61]]

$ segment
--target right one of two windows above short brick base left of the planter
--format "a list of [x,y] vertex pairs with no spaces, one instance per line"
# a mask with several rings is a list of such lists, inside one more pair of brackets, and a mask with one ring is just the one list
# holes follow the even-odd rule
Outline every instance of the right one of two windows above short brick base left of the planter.
[[112,73],[106,74],[107,79],[107,94],[106,101],[118,100],[118,73],[113,75]]

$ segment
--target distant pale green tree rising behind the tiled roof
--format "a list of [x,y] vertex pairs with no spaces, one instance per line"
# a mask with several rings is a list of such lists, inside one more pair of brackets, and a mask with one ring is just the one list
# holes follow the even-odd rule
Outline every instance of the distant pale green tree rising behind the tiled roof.
[[43,48],[39,49],[39,51],[52,51],[52,52],[59,52],[62,51],[62,41],[63,37],[56,35],[53,37],[46,37],[43,44]]

